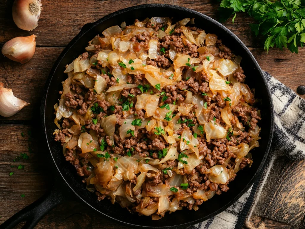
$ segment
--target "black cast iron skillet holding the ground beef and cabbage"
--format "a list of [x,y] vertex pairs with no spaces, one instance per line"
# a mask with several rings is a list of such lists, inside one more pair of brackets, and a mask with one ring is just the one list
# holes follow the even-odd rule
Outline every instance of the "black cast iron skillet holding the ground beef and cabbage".
[[[150,217],[131,214],[126,209],[121,208],[117,203],[111,204],[109,200],[97,201],[95,194],[88,192],[81,178],[77,176],[75,168],[65,161],[62,147],[53,140],[53,131],[56,129],[54,122],[55,115],[53,105],[58,102],[58,91],[62,89],[61,82],[66,79],[63,73],[65,65],[71,63],[79,54],[83,53],[84,48],[96,34],[113,25],[120,25],[126,21],[127,25],[133,24],[134,20],[143,20],[146,17],[174,17],[174,21],[183,18],[195,18],[195,26],[202,28],[206,33],[215,33],[222,39],[234,54],[242,56],[242,68],[245,70],[246,83],[250,88],[255,88],[255,97],[262,100],[259,107],[261,109],[262,120],[259,125],[262,127],[260,132],[260,147],[254,148],[253,165],[245,168],[238,173],[235,180],[230,182],[230,190],[220,196],[214,196],[209,201],[199,206],[197,211],[186,209],[176,211],[172,214],[165,214],[161,220],[151,220]],[[108,216],[115,222],[129,225],[133,228],[177,228],[187,227],[195,223],[202,222],[215,216],[234,203],[242,194],[253,184],[257,174],[264,167],[265,160],[270,148],[273,128],[274,115],[273,103],[266,79],[257,61],[254,59],[248,48],[230,30],[225,28],[217,21],[191,9],[175,5],[147,4],[122,9],[99,19],[95,23],[84,25],[80,33],[67,45],[55,62],[48,80],[45,85],[44,97],[41,103],[41,119],[48,144],[48,150],[52,156],[50,163],[54,163],[55,185],[49,193],[41,199],[27,206],[16,215],[5,221],[0,228],[12,228],[22,221],[27,221],[23,228],[33,228],[38,221],[54,206],[66,199],[64,193],[69,196],[75,194],[77,199],[91,206],[97,212]]]

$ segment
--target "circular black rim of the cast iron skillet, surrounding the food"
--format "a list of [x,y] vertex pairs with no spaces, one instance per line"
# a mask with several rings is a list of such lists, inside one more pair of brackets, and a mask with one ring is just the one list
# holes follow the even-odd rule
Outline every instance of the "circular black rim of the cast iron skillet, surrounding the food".
[[250,50],[246,47],[246,45],[244,43],[242,43],[242,41],[234,34],[232,33],[229,29],[227,29],[225,26],[223,26],[221,23],[217,22],[216,20],[210,18],[209,16],[206,16],[205,14],[203,13],[200,13],[198,11],[195,11],[195,10],[192,10],[192,9],[188,9],[188,8],[185,8],[185,7],[182,7],[182,6],[179,6],[179,5],[170,5],[170,4],[142,4],[142,5],[135,5],[135,6],[131,6],[131,7],[128,7],[128,8],[125,8],[125,9],[121,9],[121,10],[118,10],[118,11],[115,11],[111,14],[108,14],[104,17],[102,17],[101,19],[93,22],[93,23],[87,23],[85,24],[82,28],[81,28],[81,31],[67,44],[67,46],[65,47],[65,49],[61,52],[61,54],[59,55],[59,57],[57,58],[57,60],[55,61],[50,73],[49,73],[49,76],[46,80],[46,84],[45,84],[45,88],[44,88],[44,94],[43,94],[43,97],[42,97],[42,101],[41,101],[41,122],[42,122],[42,128],[43,128],[43,131],[45,133],[45,137],[46,137],[46,142],[47,142],[47,145],[48,145],[48,151],[50,152],[51,154],[51,157],[52,157],[52,162],[54,162],[60,176],[63,178],[63,180],[66,182],[66,184],[69,186],[69,188],[75,193],[75,195],[80,199],[82,200],[84,203],[86,203],[87,205],[89,205],[91,208],[93,208],[94,210],[96,210],[97,212],[103,214],[104,216],[106,217],[109,217],[113,220],[115,220],[116,222],[120,223],[120,224],[127,224],[128,226],[133,226],[133,227],[138,227],[138,228],[164,228],[164,227],[159,227],[159,226],[150,226],[150,227],[147,227],[147,226],[141,226],[141,225],[137,225],[137,224],[132,224],[132,223],[127,223],[127,222],[124,222],[122,220],[119,220],[119,219],[116,219],[114,217],[111,217],[111,216],[108,216],[106,215],[105,213],[99,211],[98,209],[96,209],[95,207],[93,207],[90,203],[88,203],[87,201],[85,201],[80,195],[78,195],[74,189],[70,186],[70,184],[66,181],[66,179],[64,178],[64,176],[62,175],[60,169],[58,168],[57,164],[56,164],[56,161],[53,157],[53,154],[52,154],[52,151],[50,149],[50,146],[49,146],[49,142],[48,142],[48,136],[47,136],[47,132],[46,132],[46,121],[45,121],[45,106],[46,106],[46,99],[47,99],[47,95],[48,93],[52,93],[52,90],[51,92],[49,92],[49,89],[50,89],[50,82],[54,76],[54,73],[59,65],[59,63],[63,60],[63,57],[66,55],[66,53],[70,50],[70,48],[74,45],[74,43],[77,42],[77,40],[79,40],[81,38],[81,36],[84,35],[84,33],[88,32],[90,29],[92,29],[94,26],[104,22],[105,20],[108,20],[108,19],[111,19],[113,17],[116,17],[122,13],[125,13],[125,12],[132,12],[134,10],[138,10],[138,9],[147,9],[147,8],[154,8],[154,7],[159,7],[159,8],[165,8],[165,9],[178,9],[178,10],[181,10],[181,11],[184,11],[184,12],[188,12],[188,13],[192,13],[192,14],[195,14],[205,20],[208,20],[210,21],[211,23],[213,23],[215,26],[217,26],[217,29],[223,29],[226,33],[228,33],[228,35],[230,35],[234,40],[236,40],[240,47],[242,49],[244,49],[248,54],[249,54],[249,57],[251,58],[252,62],[254,63],[255,67],[257,68],[257,70],[259,71],[260,73],[260,77],[263,79],[264,81],[264,86],[265,88],[267,89],[267,94],[268,94],[268,101],[270,102],[270,110],[268,111],[270,113],[270,116],[271,116],[271,129],[270,129],[270,135],[269,135],[269,138],[268,138],[268,144],[267,144],[267,147],[266,147],[266,151],[265,151],[265,154],[264,154],[264,157],[262,158],[262,161],[259,165],[259,167],[257,168],[257,171],[254,173],[253,175],[253,178],[250,179],[250,181],[248,182],[248,184],[242,189],[242,191],[236,195],[232,200],[230,200],[226,205],[224,205],[223,207],[219,208],[218,210],[216,210],[215,212],[209,214],[209,215],[206,215],[204,217],[201,217],[197,220],[193,220],[191,222],[187,222],[187,223],[183,223],[183,224],[179,224],[177,226],[169,226],[167,228],[177,228],[177,227],[183,227],[183,226],[190,226],[190,225],[194,225],[196,223],[199,223],[199,222],[202,222],[204,220],[207,220],[215,215],[217,215],[218,213],[221,213],[222,211],[224,211],[225,209],[227,209],[229,206],[231,206],[233,203],[235,203],[249,188],[250,186],[254,183],[254,181],[257,179],[257,176],[260,174],[261,170],[263,169],[264,165],[266,164],[266,159],[267,159],[267,156],[269,154],[269,150],[270,150],[270,147],[271,147],[271,142],[272,142],[272,137],[273,137],[273,132],[274,132],[274,108],[273,108],[273,100],[272,100],[272,96],[271,96],[271,92],[270,92],[270,88],[267,84],[267,80],[266,78],[264,77],[264,73],[262,71],[262,69],[260,68],[259,64],[257,63],[256,59],[254,58],[253,54],[250,52]]

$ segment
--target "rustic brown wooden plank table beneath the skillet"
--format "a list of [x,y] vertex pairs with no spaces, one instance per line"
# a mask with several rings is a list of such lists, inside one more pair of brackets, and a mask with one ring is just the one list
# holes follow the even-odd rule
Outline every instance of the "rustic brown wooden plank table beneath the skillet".
[[[41,136],[37,131],[40,123],[39,109],[48,73],[64,47],[79,33],[84,24],[94,22],[111,12],[132,5],[165,3],[158,0],[42,0],[43,11],[38,27],[34,31],[27,32],[18,29],[14,24],[11,14],[12,2],[10,0],[0,2],[1,46],[16,36],[29,36],[33,33],[37,35],[37,45],[34,57],[26,64],[21,65],[10,61],[2,55],[0,57],[0,81],[13,88],[14,95],[31,103],[13,117],[0,117],[0,224],[37,200],[48,189],[52,174],[49,174],[46,169],[48,161],[44,160],[44,154],[48,152],[46,152],[45,146],[40,144]],[[214,19],[218,18],[219,3],[216,1],[172,0],[166,3],[185,6]],[[264,51],[264,40],[253,35],[248,26],[249,23],[254,23],[254,21],[246,14],[238,14],[235,24],[229,20],[224,25],[249,47],[263,70],[268,71],[296,91],[297,86],[305,82],[305,50],[299,49],[299,54],[296,55],[287,49],[282,52],[279,49],[271,48],[267,54]],[[20,153],[27,153],[29,159],[13,162],[13,159]],[[287,163],[292,164],[292,162]],[[305,162],[298,161],[297,163],[295,171],[298,171],[298,174],[305,174]],[[24,169],[18,170],[16,167],[10,167],[19,164],[25,165]],[[286,166],[287,170],[289,165]],[[14,174],[9,176],[10,172],[14,172]],[[302,186],[294,179],[288,182],[290,182],[290,186],[288,185],[290,191],[288,190],[287,195],[292,196],[292,202],[299,201],[293,199],[293,193],[296,190],[300,191],[300,187],[304,187],[304,182]],[[287,192],[287,190],[285,191]],[[21,194],[24,194],[25,197],[22,198]],[[303,209],[298,210],[303,215],[304,206],[305,204]],[[251,220],[255,226],[264,221],[266,227],[269,228],[297,228],[302,224],[301,221],[287,222],[285,217],[283,220],[278,220],[279,222],[256,216],[253,216]],[[296,225],[296,227],[291,225]],[[96,214],[89,207],[69,201],[49,212],[36,228],[117,227],[115,223]]]

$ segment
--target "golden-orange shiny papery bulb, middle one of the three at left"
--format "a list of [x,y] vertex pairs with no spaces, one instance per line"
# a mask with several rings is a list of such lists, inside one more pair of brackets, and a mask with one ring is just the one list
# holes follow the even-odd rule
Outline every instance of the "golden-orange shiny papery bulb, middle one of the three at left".
[[7,58],[20,62],[29,61],[35,52],[36,36],[18,36],[6,42],[2,47],[2,54]]

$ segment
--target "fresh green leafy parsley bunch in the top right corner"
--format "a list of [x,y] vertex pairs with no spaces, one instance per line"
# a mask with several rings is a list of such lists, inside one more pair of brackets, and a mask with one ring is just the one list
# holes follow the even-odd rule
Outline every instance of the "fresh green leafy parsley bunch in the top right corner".
[[298,53],[298,46],[305,43],[305,2],[301,0],[222,0],[220,4],[221,20],[227,20],[231,15],[232,22],[237,12],[247,12],[257,24],[249,26],[255,35],[266,36],[264,48],[289,48]]

